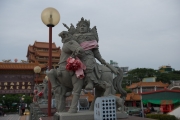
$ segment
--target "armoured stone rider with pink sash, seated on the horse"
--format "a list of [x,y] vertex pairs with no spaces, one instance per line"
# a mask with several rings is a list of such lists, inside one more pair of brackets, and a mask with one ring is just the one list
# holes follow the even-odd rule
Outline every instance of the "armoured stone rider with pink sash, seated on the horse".
[[84,70],[86,74],[85,81],[87,82],[85,89],[92,90],[94,86],[93,84],[97,84],[99,79],[96,77],[94,72],[96,66],[95,58],[99,60],[101,64],[106,64],[106,61],[101,57],[98,49],[99,46],[96,27],[94,27],[93,30],[89,27],[90,21],[81,18],[81,21],[77,24],[77,30],[79,33],[73,34],[72,39],[79,43],[85,50],[79,58],[86,66],[86,69]]

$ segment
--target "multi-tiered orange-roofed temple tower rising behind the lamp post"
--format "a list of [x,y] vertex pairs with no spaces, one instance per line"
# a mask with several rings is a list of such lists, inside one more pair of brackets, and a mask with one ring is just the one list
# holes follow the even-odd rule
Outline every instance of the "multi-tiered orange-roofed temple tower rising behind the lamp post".
[[[56,47],[56,44],[52,43],[52,68],[58,67],[60,55],[61,55],[60,47]],[[28,46],[26,57],[29,63],[38,62],[41,65],[48,66],[48,56],[49,56],[48,42],[35,41],[33,45]]]

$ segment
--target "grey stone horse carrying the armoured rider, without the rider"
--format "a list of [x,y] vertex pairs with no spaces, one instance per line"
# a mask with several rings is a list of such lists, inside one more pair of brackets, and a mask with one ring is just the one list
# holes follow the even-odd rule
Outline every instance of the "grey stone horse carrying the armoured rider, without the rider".
[[[77,78],[75,72],[66,70],[66,65],[67,65],[66,60],[73,53],[76,54],[81,53],[83,49],[74,40],[67,40],[64,42],[65,43],[63,44],[61,51],[59,68],[51,69],[48,72],[47,76],[51,81],[53,90],[55,91],[57,112],[65,111],[66,97],[71,95],[70,93],[73,91],[72,103],[68,112],[76,113],[78,99],[80,97],[81,90],[84,88],[84,80]],[[121,88],[121,82],[122,82],[121,69],[118,69],[119,74],[117,74],[117,77],[113,79],[113,73],[108,67],[97,64],[97,68],[99,68],[98,71],[100,73],[100,79],[99,79],[99,84],[95,86],[95,97],[93,102],[91,103],[90,110],[94,109],[94,102],[96,98],[104,96],[104,93],[107,93],[105,82],[112,85],[110,89],[107,89],[108,93],[114,95],[117,90],[119,93],[121,93],[122,98],[126,97],[126,92]]]

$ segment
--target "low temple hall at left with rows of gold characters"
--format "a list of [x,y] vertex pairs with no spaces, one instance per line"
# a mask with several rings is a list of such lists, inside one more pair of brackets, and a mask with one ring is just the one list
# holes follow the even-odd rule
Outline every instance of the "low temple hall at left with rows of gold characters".
[[[41,67],[38,77],[33,71],[35,66]],[[45,70],[46,65],[38,63],[0,62],[0,94],[33,93],[35,82],[45,78]]]

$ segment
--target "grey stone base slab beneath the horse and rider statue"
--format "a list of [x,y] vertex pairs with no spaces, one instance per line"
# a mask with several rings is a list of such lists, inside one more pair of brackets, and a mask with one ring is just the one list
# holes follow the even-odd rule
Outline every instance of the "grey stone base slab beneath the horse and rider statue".
[[[126,113],[117,112],[117,119],[127,118]],[[94,120],[94,111],[79,111],[77,113],[55,113],[53,120]]]

